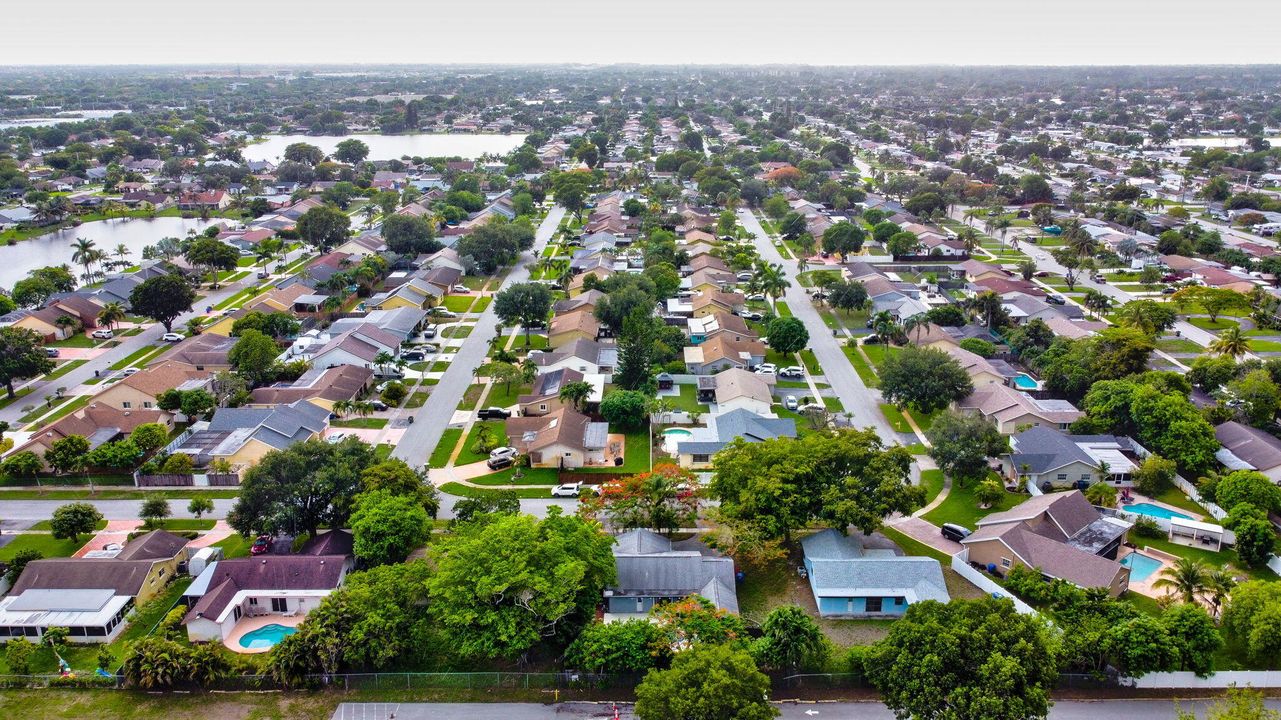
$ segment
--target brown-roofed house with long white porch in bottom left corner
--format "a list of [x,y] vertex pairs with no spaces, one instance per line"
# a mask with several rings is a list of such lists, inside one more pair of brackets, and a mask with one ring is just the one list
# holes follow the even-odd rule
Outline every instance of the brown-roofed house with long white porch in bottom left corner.
[[74,643],[113,642],[136,606],[156,597],[187,560],[187,541],[152,530],[114,557],[32,560],[0,600],[0,638],[40,642],[67,628]]

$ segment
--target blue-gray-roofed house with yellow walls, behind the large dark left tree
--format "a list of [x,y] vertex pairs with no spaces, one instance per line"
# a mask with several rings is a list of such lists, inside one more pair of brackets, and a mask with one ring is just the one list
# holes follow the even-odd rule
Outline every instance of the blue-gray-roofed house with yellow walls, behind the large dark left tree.
[[213,420],[193,425],[195,432],[174,452],[191,455],[200,468],[214,460],[250,468],[273,450],[320,437],[328,427],[329,411],[305,400],[274,407],[219,407]]

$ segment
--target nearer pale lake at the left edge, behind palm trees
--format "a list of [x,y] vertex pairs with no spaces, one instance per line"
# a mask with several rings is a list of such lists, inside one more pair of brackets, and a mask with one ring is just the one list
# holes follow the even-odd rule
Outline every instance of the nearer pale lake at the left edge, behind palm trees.
[[85,269],[72,263],[72,243],[79,237],[92,240],[108,255],[123,242],[129,249],[129,260],[136,264],[142,260],[142,249],[155,245],[161,237],[186,237],[188,229],[200,232],[218,220],[196,218],[117,218],[63,228],[18,245],[0,245],[0,287],[12,288],[28,272],[63,263],[70,265],[76,277],[79,277]]

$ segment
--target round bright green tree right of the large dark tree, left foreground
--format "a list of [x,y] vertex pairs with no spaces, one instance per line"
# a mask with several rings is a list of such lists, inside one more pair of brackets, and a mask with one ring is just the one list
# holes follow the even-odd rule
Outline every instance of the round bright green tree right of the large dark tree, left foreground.
[[365,492],[351,514],[356,557],[368,565],[404,562],[427,542],[432,525],[416,497],[379,489]]

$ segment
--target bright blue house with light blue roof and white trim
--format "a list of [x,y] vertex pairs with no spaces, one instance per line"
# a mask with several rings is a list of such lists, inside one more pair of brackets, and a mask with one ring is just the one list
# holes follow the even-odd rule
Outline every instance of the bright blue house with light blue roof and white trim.
[[865,548],[858,538],[836,530],[815,533],[801,547],[824,618],[895,618],[913,602],[949,600],[943,568],[933,557]]

